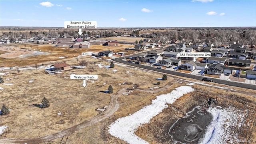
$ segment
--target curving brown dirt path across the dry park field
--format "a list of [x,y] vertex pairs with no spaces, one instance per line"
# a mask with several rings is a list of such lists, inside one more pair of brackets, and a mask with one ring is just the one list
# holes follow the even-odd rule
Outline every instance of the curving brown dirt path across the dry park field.
[[[137,89],[143,92],[150,92],[150,93],[155,93],[155,92],[160,92],[162,90],[168,89],[173,84],[173,82],[167,83],[164,87],[155,89],[155,90],[142,90],[142,89]],[[62,138],[63,136],[72,134],[73,132],[76,132],[82,128],[88,127],[92,124],[95,124],[97,122],[100,122],[104,120],[105,118],[108,118],[114,114],[119,108],[118,104],[118,98],[122,95],[123,92],[127,91],[127,88],[122,88],[121,90],[118,90],[115,94],[113,94],[110,98],[110,104],[108,105],[108,108],[102,112],[101,114],[98,114],[94,118],[90,120],[86,120],[85,122],[82,122],[76,126],[72,126],[71,128],[68,128],[66,130],[62,130],[60,132],[50,134],[48,136],[43,136],[43,137],[37,137],[37,138],[22,138],[22,139],[14,139],[14,138],[2,138],[0,137],[0,144],[38,144],[42,142],[47,142],[50,140],[54,140],[56,138]]]

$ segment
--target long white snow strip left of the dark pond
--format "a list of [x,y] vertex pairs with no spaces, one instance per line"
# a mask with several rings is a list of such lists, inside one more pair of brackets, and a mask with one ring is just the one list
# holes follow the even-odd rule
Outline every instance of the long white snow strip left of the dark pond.
[[145,106],[132,115],[118,118],[114,123],[110,124],[108,132],[112,136],[130,144],[148,144],[148,142],[134,134],[138,126],[149,123],[151,118],[168,107],[166,103],[172,104],[184,94],[192,91],[194,89],[191,86],[180,86],[168,94],[156,96],[156,99],[152,100],[151,105]]

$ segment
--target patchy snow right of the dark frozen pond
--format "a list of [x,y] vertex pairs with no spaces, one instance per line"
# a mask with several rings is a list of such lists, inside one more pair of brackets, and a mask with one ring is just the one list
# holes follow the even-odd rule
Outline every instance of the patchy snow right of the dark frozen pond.
[[232,107],[209,108],[207,111],[213,115],[213,120],[200,144],[232,144],[239,140],[234,129],[240,129],[245,123],[244,116],[248,111],[242,112]]

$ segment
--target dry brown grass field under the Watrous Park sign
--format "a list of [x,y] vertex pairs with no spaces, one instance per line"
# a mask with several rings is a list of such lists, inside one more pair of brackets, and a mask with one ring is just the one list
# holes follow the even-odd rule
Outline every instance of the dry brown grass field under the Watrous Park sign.
[[[88,67],[95,66],[94,62],[109,65],[109,62],[96,58],[87,60],[90,60]],[[76,61],[68,64],[72,63],[76,63]],[[114,73],[113,69],[117,71]],[[133,83],[140,84],[139,88],[147,89],[158,82],[154,78],[162,76],[154,74],[154,78],[148,79],[152,77],[152,72],[147,73],[118,65],[115,65],[113,69],[94,68],[95,71],[92,74],[98,74],[99,78],[94,82],[88,80],[86,88],[83,88],[82,80],[70,80],[69,77],[74,73],[91,74],[88,68],[67,70],[56,75],[46,74],[44,70],[21,70],[19,74],[16,71],[11,71],[10,74],[3,75],[4,80],[11,78],[10,81],[5,81],[6,83],[14,85],[0,85],[4,88],[1,90],[1,105],[6,104],[12,109],[10,114],[1,116],[0,126],[9,126],[2,136],[32,138],[69,128],[100,114],[96,108],[108,105],[110,100],[110,94],[100,91],[107,90],[109,85],[112,85],[114,92],[125,87],[131,88]],[[30,80],[34,80],[34,82],[30,83]],[[128,84],[122,84],[123,82]],[[160,86],[165,84],[167,81],[161,81]],[[123,108],[129,106],[129,110],[124,109],[124,111],[132,114],[146,104],[147,97],[152,99],[155,95],[132,92],[127,97],[128,99],[120,98],[120,106],[124,105]],[[30,106],[40,104],[43,97],[50,101],[49,108],[41,109]],[[136,104],[133,105],[133,103]],[[59,111],[62,113],[61,116],[57,114]],[[30,113],[31,118],[29,117]],[[114,114],[114,117],[119,118],[126,114],[120,112],[120,114]]]

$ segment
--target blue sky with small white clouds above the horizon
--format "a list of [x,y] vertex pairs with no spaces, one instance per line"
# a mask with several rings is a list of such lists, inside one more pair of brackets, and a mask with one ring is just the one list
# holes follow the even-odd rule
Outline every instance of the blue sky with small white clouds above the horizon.
[[1,0],[0,26],[256,26],[256,0]]

